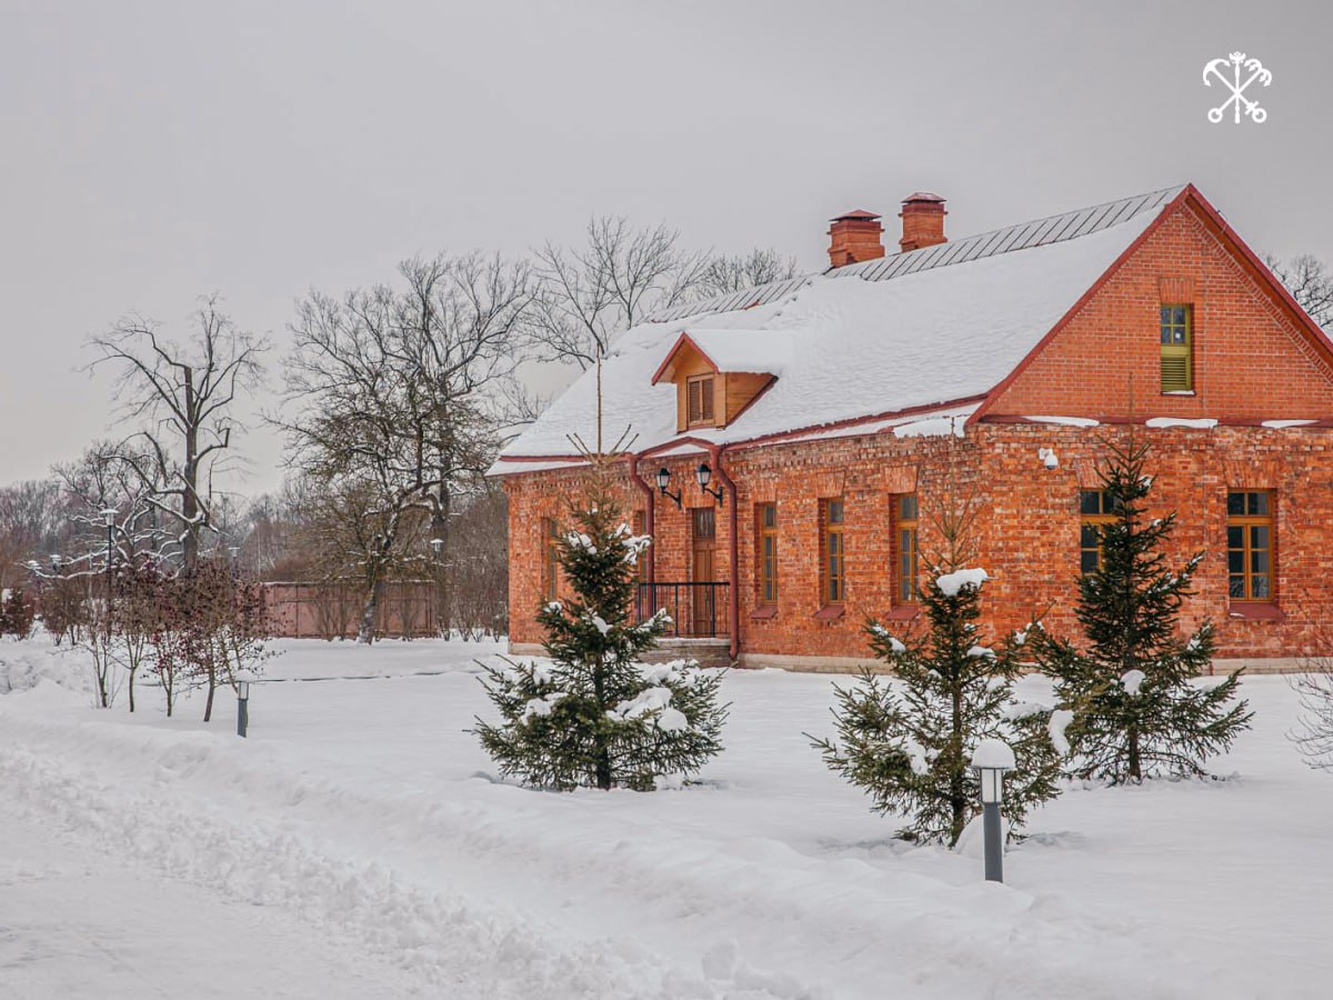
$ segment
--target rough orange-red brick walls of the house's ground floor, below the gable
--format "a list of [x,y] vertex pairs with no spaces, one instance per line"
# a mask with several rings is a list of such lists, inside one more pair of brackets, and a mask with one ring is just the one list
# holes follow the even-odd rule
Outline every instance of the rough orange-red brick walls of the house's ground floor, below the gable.
[[[972,491],[977,516],[970,533],[974,559],[992,581],[985,589],[985,623],[992,635],[1045,612],[1048,625],[1076,633],[1078,575],[1078,492],[1097,488],[1096,468],[1108,439],[1124,440],[1128,427],[1073,428],[1041,424],[980,424],[966,440],[889,435],[845,437],[800,445],[738,451],[724,457],[737,481],[738,593],[741,652],[789,657],[856,659],[865,655],[865,616],[906,616],[892,585],[892,501],[916,492],[922,563],[944,549],[938,517]],[[1333,429],[1218,427],[1213,429],[1136,427],[1152,444],[1154,476],[1149,516],[1177,513],[1168,551],[1172,564],[1206,551],[1196,596],[1182,621],[1205,616],[1218,625],[1218,655],[1297,656],[1320,649],[1320,623],[1333,620]],[[1038,449],[1060,459],[1048,469]],[[693,579],[689,565],[690,507],[712,503],[693,485],[697,459],[666,463],[674,484],[686,484],[684,509],[657,499],[655,569],[660,581]],[[625,483],[627,509],[643,495]],[[531,613],[540,600],[541,516],[564,516],[560,491],[576,491],[571,473],[535,473],[507,480],[511,501],[512,639],[537,643]],[[1233,617],[1226,597],[1226,492],[1276,491],[1277,605],[1281,620]],[[818,620],[822,607],[820,500],[845,503],[846,605],[834,620]],[[954,497],[950,501],[950,496]],[[772,617],[758,608],[754,508],[776,503],[778,513],[778,600]],[[549,513],[548,513],[549,512]],[[729,576],[729,511],[717,516],[717,580]],[[906,621],[902,623],[906,627]]]

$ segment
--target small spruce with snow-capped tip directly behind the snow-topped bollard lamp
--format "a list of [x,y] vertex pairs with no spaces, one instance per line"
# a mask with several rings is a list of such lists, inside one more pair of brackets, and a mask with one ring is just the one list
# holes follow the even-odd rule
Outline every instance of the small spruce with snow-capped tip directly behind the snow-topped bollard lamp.
[[986,573],[966,568],[970,520],[970,503],[937,520],[950,555],[926,569],[920,600],[929,632],[900,640],[878,621],[866,625],[870,648],[897,680],[866,669],[856,685],[836,685],[837,739],[813,740],[829,768],[870,793],[876,812],[905,820],[897,836],[949,847],[981,812],[970,763],[981,740],[1004,740],[1014,752],[1017,768],[1005,776],[1010,829],[1058,793],[1060,776],[1050,711],[1013,697],[1028,633],[992,649],[974,624]]

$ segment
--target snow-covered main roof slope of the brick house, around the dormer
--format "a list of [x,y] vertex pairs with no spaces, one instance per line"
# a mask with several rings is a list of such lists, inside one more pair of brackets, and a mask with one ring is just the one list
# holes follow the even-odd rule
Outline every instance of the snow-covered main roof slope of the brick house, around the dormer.
[[[928,409],[984,396],[1097,281],[1181,188],[1121,199],[929,247],[776,281],[684,307],[628,331],[603,363],[605,435],[635,451],[677,437],[676,387],[652,384],[682,333],[720,371],[778,375],[732,424],[694,428],[718,444]],[[860,281],[837,280],[861,277]],[[571,452],[596,436],[596,376],[571,385],[503,452]]]

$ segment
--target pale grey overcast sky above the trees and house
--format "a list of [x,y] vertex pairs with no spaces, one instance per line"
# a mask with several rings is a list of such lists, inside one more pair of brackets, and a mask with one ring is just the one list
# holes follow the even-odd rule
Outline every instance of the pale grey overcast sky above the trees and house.
[[[281,347],[312,287],[591,213],[816,268],[829,216],[892,235],[920,188],[964,236],[1192,180],[1333,263],[1330,37],[1328,3],[0,0],[0,484],[121,432],[79,368],[125,312],[183,333],[217,291]],[[1236,49],[1262,125],[1205,117]]]

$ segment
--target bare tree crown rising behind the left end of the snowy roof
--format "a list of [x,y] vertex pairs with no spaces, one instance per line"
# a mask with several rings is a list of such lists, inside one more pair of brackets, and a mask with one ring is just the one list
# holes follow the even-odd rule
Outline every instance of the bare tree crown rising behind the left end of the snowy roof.
[[617,333],[686,301],[708,261],[681,251],[678,239],[665,224],[639,229],[624,216],[600,216],[588,221],[587,245],[547,243],[536,251],[532,329],[541,359],[591,368]]

